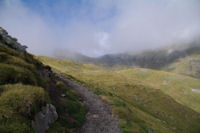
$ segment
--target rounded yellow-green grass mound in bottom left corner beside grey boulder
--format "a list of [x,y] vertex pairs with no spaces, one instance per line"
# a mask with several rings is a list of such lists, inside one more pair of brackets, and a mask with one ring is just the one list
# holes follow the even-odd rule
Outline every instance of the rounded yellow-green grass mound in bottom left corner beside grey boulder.
[[50,102],[43,88],[8,84],[0,96],[0,132],[33,132],[29,117],[37,113],[41,106]]

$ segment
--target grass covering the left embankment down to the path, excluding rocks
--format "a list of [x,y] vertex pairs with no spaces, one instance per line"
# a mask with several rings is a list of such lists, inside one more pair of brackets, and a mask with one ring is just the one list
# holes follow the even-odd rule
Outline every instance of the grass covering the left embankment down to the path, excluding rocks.
[[[34,120],[34,115],[47,103],[54,104],[59,115],[59,119],[50,126],[48,132],[67,132],[82,125],[85,110],[78,97],[70,88],[51,79],[46,68],[48,67],[29,53],[19,53],[0,46],[1,133],[33,133],[30,123]],[[52,87],[54,92],[67,95],[63,98],[65,105],[60,106],[56,102],[56,94],[51,95],[49,92]],[[66,114],[69,114],[74,122],[65,117]]]

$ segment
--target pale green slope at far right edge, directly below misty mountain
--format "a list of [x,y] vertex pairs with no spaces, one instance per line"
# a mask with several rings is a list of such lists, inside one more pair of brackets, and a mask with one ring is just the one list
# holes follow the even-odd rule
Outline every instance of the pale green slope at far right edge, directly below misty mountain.
[[180,58],[164,68],[164,70],[200,78],[200,54],[192,54],[185,58]]

